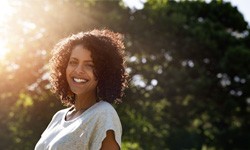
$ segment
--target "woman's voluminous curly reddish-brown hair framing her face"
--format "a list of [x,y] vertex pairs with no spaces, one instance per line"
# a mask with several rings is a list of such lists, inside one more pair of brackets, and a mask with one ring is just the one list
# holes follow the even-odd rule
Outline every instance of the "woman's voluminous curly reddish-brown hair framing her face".
[[125,55],[122,36],[110,30],[80,32],[62,39],[52,50],[50,59],[51,91],[60,97],[63,104],[73,105],[75,94],[66,79],[66,68],[76,45],[82,45],[91,52],[98,79],[97,96],[109,103],[120,103],[127,87]]

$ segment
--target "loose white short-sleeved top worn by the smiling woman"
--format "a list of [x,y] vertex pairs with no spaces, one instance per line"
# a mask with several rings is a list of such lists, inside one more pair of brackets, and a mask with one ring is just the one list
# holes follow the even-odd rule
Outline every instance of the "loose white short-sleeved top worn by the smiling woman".
[[69,110],[60,110],[53,116],[35,150],[99,150],[108,130],[114,131],[121,148],[122,126],[111,104],[100,101],[80,116],[65,121]]

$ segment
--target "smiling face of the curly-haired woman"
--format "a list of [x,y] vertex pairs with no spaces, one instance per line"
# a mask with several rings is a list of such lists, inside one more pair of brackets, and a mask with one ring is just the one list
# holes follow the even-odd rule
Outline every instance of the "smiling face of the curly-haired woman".
[[94,63],[91,52],[82,45],[73,48],[66,77],[69,87],[76,95],[96,94],[98,80],[94,75]]

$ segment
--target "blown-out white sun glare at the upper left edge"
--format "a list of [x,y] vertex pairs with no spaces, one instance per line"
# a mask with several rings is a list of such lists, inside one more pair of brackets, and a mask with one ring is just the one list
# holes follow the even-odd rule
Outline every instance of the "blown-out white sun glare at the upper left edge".
[[4,55],[8,52],[6,47],[7,38],[6,35],[6,21],[8,17],[13,13],[13,9],[7,0],[0,0],[0,59],[4,58]]

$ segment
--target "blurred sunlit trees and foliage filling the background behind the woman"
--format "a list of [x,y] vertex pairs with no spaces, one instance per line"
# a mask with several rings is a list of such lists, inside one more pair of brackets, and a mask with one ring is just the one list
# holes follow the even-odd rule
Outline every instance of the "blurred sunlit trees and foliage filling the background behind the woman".
[[59,39],[124,34],[123,150],[250,149],[250,35],[223,0],[0,0],[0,149],[31,150],[53,114]]

